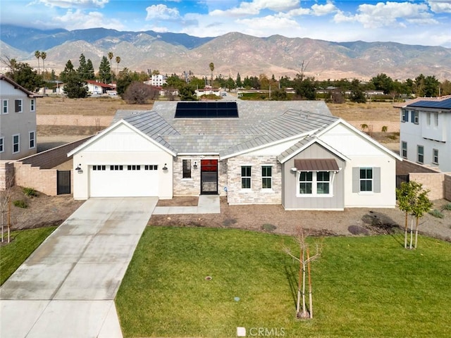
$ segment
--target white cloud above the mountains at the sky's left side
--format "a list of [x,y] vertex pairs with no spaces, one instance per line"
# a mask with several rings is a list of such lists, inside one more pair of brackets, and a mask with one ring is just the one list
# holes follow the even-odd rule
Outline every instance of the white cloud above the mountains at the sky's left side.
[[55,16],[54,24],[65,27],[67,30],[84,30],[87,28],[104,27],[113,30],[122,30],[123,24],[116,19],[106,19],[100,12],[84,13],[80,9],[73,11],[69,9],[66,14]]

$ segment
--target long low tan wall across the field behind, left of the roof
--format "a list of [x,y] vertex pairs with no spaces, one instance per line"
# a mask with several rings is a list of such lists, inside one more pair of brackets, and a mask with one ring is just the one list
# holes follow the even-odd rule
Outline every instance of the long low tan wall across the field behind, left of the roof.
[[108,127],[113,116],[89,115],[36,115],[37,125],[79,125]]

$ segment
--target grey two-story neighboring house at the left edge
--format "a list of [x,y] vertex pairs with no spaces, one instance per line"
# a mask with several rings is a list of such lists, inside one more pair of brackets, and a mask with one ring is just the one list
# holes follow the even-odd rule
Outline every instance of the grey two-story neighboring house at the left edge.
[[36,154],[36,99],[39,95],[0,74],[0,160]]

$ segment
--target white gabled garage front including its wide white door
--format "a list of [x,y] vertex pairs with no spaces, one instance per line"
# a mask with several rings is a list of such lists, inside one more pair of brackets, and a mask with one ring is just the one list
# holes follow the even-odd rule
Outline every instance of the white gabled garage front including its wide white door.
[[[170,199],[173,156],[125,124],[74,154],[74,198],[158,196]],[[163,167],[168,168],[163,170]]]

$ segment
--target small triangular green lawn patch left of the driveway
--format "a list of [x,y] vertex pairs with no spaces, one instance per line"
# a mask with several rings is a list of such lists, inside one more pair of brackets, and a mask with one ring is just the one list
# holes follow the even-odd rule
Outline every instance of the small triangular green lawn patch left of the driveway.
[[[11,232],[11,242],[0,246],[0,285],[22,264],[56,227]],[[6,242],[6,231],[4,241]]]

